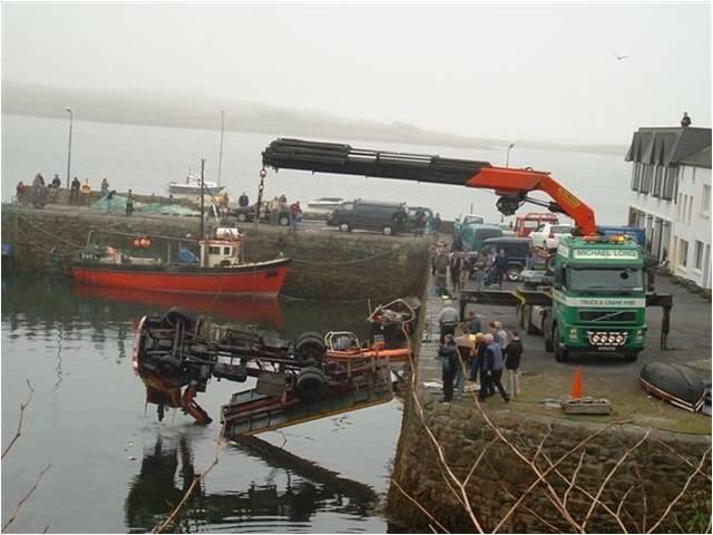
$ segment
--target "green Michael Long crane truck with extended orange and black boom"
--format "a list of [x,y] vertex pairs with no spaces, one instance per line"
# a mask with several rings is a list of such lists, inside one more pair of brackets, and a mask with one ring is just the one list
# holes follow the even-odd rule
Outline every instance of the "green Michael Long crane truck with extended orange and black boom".
[[[594,211],[549,173],[285,138],[265,148],[263,167],[488,188],[499,195],[496,206],[504,215],[514,215],[525,202],[566,214],[576,230],[560,240],[551,276],[540,274],[540,284],[533,278],[515,291],[463,291],[461,315],[468,302],[516,305],[520,321],[529,332],[543,333],[545,349],[554,351],[558,361],[593,352],[635,361],[645,344],[646,307],[662,307],[661,347],[666,348],[673,302],[671,295],[654,293],[644,251],[628,236],[602,235]],[[545,192],[553,201],[531,198],[533,191]]]

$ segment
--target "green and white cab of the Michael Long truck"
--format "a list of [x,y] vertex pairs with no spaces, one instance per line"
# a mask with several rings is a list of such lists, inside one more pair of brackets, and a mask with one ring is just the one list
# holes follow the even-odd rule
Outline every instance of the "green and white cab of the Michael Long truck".
[[543,331],[558,361],[616,353],[633,362],[646,339],[643,252],[627,236],[566,236],[557,247]]

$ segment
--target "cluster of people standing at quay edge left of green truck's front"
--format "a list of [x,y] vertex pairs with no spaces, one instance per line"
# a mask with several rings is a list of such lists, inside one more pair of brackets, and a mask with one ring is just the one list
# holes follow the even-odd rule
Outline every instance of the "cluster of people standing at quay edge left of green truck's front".
[[[519,368],[524,348],[516,330],[508,335],[499,321],[491,321],[489,332],[484,333],[482,320],[475,311],[461,322],[449,300],[441,309],[438,322],[443,402],[450,402],[453,396],[463,396],[466,377],[476,383],[480,381],[478,397],[481,401],[496,391],[506,402],[511,395],[520,395]],[[509,389],[502,386],[504,370],[508,372]]]

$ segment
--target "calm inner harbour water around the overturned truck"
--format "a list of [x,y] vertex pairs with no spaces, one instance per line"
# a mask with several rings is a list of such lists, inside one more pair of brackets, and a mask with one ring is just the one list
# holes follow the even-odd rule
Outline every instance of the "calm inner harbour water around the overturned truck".
[[[23,434],[2,461],[2,518],[51,464],[10,532],[147,532],[213,460],[218,424],[198,427],[176,411],[163,422],[144,410],[131,369],[134,327],[165,310],[150,296],[119,296],[52,279],[2,282],[2,442]],[[183,304],[183,303],[179,303]],[[229,310],[221,302],[219,310]],[[367,304],[238,301],[218,320],[293,337],[314,329],[365,328]],[[252,318],[251,318],[252,317]],[[212,381],[201,405],[221,403],[246,385]],[[261,435],[274,451],[225,446],[219,464],[182,516],[185,532],[385,532],[378,507],[388,489],[401,402]],[[330,470],[330,471],[326,471]],[[339,474],[336,476],[335,474]]]

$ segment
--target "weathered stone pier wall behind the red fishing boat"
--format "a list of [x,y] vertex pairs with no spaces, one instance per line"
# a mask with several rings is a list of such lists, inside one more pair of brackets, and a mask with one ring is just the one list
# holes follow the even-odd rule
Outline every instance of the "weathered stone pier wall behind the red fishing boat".
[[[247,224],[244,251],[250,261],[293,259],[283,294],[297,299],[374,303],[418,294],[428,275],[430,242],[410,236],[382,236]],[[179,216],[104,215],[87,210],[2,207],[2,243],[13,246],[13,269],[35,272],[67,268],[72,253],[92,241],[130,250],[140,235],[152,239],[152,254],[174,260],[178,241],[195,249],[199,221]],[[206,226],[206,232],[208,227]],[[192,246],[193,245],[193,246]]]

